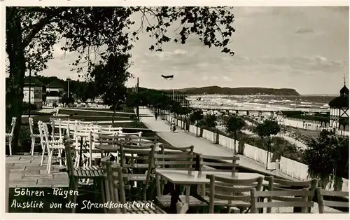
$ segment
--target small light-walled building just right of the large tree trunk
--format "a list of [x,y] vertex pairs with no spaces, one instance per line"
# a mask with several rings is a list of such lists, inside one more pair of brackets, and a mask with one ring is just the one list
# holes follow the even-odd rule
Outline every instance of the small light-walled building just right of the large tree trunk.
[[30,78],[30,90],[29,90],[29,77],[25,78],[25,87],[23,88],[23,102],[36,105],[38,109],[43,106],[43,83],[36,78]]

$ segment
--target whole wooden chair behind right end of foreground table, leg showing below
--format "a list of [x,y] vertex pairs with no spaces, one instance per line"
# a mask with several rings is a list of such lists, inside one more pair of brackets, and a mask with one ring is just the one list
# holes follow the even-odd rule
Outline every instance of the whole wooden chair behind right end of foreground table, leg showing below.
[[[217,171],[217,172],[231,172],[232,177],[235,177],[235,173],[237,172],[236,167],[239,166],[237,163],[237,160],[239,160],[239,157],[237,156],[207,156],[199,154],[198,156],[200,158],[200,172],[198,172],[198,175],[201,175],[203,171]],[[217,161],[217,162],[209,162],[211,161]],[[221,160],[230,160],[232,163],[225,163]],[[214,168],[219,167],[219,169]],[[230,167],[230,170],[224,170],[220,169],[221,167]],[[201,186],[201,195],[202,198],[209,202],[209,197],[206,196],[206,186],[203,184]]]

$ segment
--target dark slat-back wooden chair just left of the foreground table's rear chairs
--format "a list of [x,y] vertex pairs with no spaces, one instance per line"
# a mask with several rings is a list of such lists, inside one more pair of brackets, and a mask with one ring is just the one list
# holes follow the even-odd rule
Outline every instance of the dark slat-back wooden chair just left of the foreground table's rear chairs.
[[151,169],[153,167],[153,156],[155,153],[154,145],[147,146],[127,146],[120,145],[120,166],[126,168],[129,181],[137,187],[138,183],[143,184],[140,193],[146,200],[148,184],[151,181]]

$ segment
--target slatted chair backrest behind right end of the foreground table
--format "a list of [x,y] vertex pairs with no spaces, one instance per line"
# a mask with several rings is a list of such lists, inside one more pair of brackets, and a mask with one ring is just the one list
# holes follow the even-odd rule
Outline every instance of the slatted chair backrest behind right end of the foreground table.
[[[218,162],[209,162],[206,160],[216,160]],[[230,160],[231,163],[225,163],[225,161],[221,160]],[[239,157],[237,156],[208,156],[200,154],[200,173],[205,170],[212,170],[210,167],[219,167],[219,169],[216,168],[215,171],[218,172],[231,172],[232,177],[235,177],[235,173],[237,172],[236,167],[238,167],[237,160],[239,160]],[[220,169],[221,167],[230,167],[230,170],[223,170]]]

